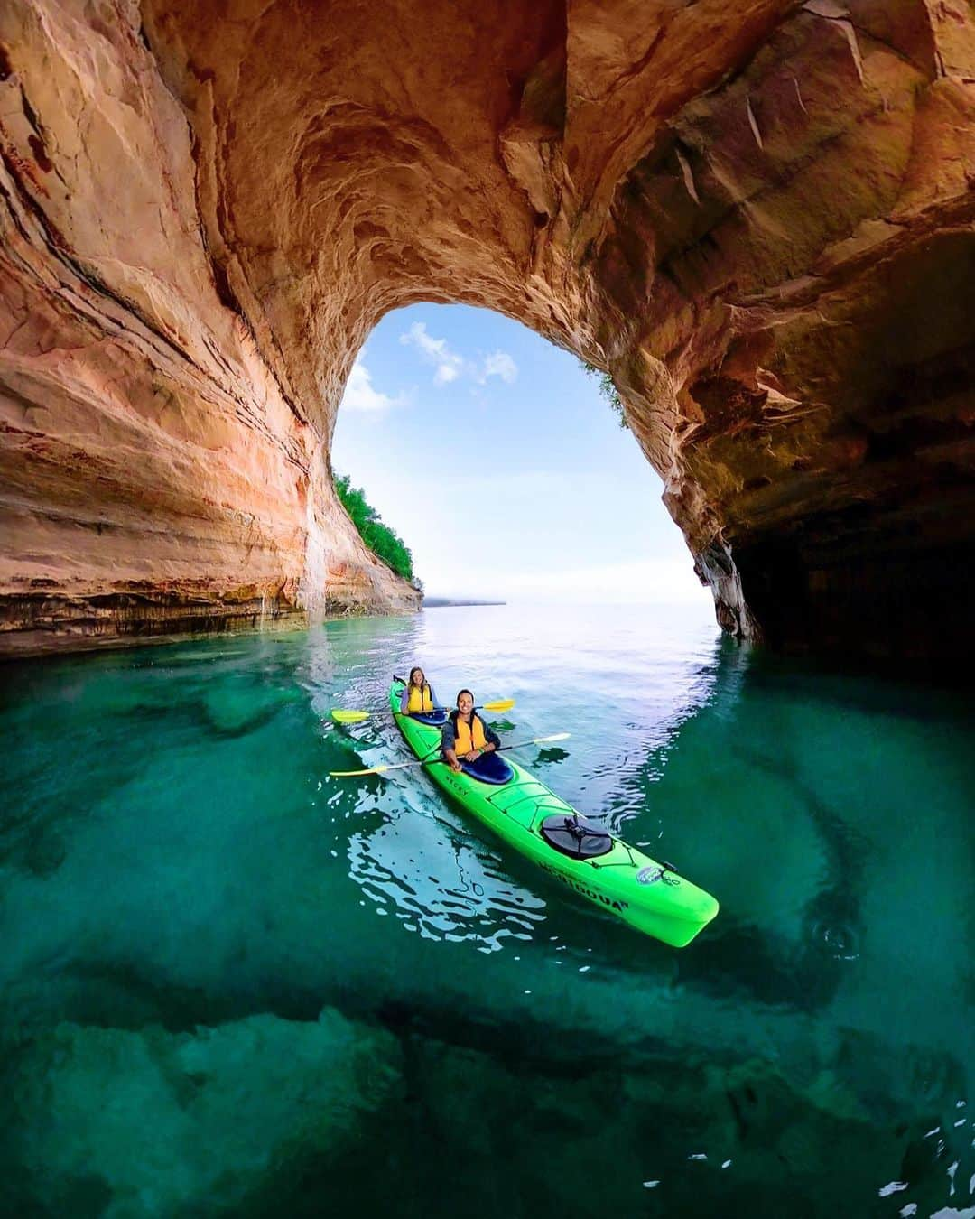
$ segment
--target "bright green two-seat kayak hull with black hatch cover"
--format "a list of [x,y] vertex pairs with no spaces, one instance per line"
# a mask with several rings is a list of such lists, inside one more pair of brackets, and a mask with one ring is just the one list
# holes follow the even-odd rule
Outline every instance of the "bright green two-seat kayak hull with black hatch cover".
[[400,712],[402,690],[402,680],[394,679],[390,708],[407,745],[418,758],[429,758],[424,769],[434,783],[550,876],[675,948],[718,913],[711,894],[586,822],[511,755],[505,755],[511,768],[505,781],[456,774],[439,761],[439,727]]

